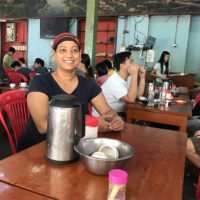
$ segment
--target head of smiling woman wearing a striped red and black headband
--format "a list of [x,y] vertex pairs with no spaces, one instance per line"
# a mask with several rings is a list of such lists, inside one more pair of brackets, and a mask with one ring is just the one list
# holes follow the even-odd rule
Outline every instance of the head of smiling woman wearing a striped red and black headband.
[[52,45],[52,57],[57,68],[75,70],[81,61],[80,42],[71,33],[61,33]]

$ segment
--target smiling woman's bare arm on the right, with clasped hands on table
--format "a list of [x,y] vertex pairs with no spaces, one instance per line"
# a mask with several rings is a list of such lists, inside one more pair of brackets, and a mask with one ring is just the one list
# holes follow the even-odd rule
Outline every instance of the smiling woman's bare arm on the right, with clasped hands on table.
[[124,128],[124,122],[121,117],[108,105],[103,93],[101,92],[92,99],[92,105],[100,114],[99,131],[119,131]]

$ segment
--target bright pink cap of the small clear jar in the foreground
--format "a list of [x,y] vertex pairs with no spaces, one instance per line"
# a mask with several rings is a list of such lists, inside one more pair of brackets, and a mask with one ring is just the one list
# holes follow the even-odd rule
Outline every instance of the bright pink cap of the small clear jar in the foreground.
[[112,169],[109,171],[108,180],[113,184],[126,184],[128,182],[128,173],[121,169]]

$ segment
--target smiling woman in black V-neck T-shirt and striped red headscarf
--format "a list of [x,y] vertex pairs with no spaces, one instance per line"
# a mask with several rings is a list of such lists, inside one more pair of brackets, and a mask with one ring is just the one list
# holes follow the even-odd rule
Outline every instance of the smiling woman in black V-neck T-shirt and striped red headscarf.
[[[85,114],[91,102],[100,114],[100,131],[118,131],[124,127],[122,119],[107,104],[101,88],[94,81],[76,75],[81,60],[79,40],[70,33],[62,33],[56,36],[52,48],[56,70],[31,80],[27,95],[30,119],[19,140],[18,151],[46,139],[48,103],[58,94],[75,95],[77,101],[85,105]],[[108,116],[112,116],[111,122],[106,121]]]

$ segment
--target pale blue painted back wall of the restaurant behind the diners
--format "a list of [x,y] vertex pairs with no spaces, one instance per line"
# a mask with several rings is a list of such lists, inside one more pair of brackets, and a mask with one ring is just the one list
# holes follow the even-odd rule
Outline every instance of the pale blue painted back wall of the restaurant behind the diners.
[[[41,57],[48,64],[51,53],[49,39],[40,38],[40,20],[29,20],[28,29],[28,63],[36,57]],[[178,23],[177,23],[178,22]],[[69,23],[70,32],[77,35],[77,20],[72,18]],[[136,27],[136,29],[135,29]],[[125,34],[124,33],[125,30]],[[145,43],[146,37],[156,38],[154,45],[154,62],[146,62],[146,51],[141,57],[140,51],[132,51],[136,63],[152,68],[163,50],[171,53],[171,71],[199,73],[200,68],[200,15],[190,16],[129,16],[118,18],[116,52],[121,46],[133,45],[136,38]],[[174,42],[176,47],[173,47]],[[197,76],[200,80],[200,75]]]

